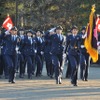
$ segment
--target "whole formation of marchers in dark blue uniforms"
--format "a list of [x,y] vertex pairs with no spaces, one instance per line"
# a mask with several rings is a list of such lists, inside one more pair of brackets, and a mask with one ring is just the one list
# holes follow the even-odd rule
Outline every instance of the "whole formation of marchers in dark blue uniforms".
[[[86,28],[81,32],[73,26],[66,36],[63,28],[57,26],[47,32],[32,29],[0,30],[0,76],[4,75],[9,83],[15,83],[15,73],[28,79],[41,77],[44,64],[47,76],[55,76],[56,84],[62,83],[62,74],[67,62],[66,78],[77,86],[78,69],[80,78],[88,80],[89,54],[84,46]],[[44,63],[45,62],[45,63]],[[1,77],[2,78],[2,77]]]

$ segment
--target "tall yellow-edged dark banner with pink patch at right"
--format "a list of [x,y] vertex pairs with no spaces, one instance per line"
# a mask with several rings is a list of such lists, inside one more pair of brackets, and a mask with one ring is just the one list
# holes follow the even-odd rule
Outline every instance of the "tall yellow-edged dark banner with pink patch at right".
[[96,18],[95,18],[95,6],[92,6],[92,10],[89,17],[89,24],[87,25],[87,37],[85,39],[84,45],[92,58],[93,62],[98,60],[98,50],[97,50],[97,41],[98,34],[96,28]]

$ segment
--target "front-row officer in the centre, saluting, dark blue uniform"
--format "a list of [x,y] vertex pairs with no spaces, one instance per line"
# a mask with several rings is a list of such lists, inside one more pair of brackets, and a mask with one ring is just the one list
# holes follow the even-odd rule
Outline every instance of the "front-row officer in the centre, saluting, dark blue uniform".
[[54,35],[51,37],[51,50],[52,64],[55,70],[56,84],[61,84],[62,64],[63,64],[63,28],[57,26]]

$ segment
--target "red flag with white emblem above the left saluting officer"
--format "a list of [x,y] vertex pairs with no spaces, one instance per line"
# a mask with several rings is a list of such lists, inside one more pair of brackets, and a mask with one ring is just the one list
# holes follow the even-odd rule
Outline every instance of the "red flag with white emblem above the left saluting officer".
[[3,22],[3,28],[5,28],[6,30],[10,30],[13,27],[13,22],[10,18],[10,16],[7,16],[7,18],[5,19],[5,21]]

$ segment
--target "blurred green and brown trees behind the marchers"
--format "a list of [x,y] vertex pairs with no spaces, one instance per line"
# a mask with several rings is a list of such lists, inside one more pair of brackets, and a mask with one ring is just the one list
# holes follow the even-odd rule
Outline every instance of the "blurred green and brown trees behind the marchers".
[[80,27],[87,24],[94,3],[99,13],[100,0],[0,0],[0,25],[9,13],[18,27]]

